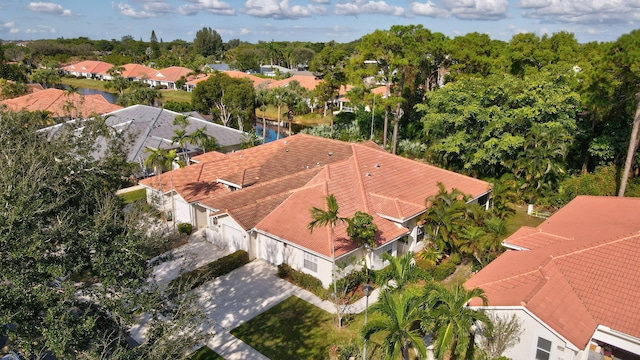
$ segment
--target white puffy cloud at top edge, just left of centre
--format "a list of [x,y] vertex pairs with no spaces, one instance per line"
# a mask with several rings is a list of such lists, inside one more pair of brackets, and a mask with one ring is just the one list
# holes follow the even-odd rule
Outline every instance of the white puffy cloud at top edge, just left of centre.
[[240,11],[255,17],[280,20],[323,15],[327,12],[327,8],[323,5],[311,4],[289,6],[289,0],[247,0]]

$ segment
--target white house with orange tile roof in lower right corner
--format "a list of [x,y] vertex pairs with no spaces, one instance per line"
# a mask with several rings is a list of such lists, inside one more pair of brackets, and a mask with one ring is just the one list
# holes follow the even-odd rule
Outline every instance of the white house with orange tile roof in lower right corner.
[[[640,358],[640,199],[579,196],[465,283],[515,314],[512,359]],[[472,306],[481,303],[474,299]]]

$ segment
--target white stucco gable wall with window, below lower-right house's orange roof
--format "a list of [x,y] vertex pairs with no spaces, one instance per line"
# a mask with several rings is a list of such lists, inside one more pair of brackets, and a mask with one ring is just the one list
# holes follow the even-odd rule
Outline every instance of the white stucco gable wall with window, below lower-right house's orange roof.
[[511,359],[531,359],[536,358],[538,337],[551,341],[550,360],[586,360],[585,352],[578,351],[575,347],[559,334],[550,329],[545,323],[526,309],[520,308],[490,308],[487,310],[502,317],[511,317],[515,314],[520,320],[521,328],[524,330],[520,336],[520,343],[507,349],[503,354]]

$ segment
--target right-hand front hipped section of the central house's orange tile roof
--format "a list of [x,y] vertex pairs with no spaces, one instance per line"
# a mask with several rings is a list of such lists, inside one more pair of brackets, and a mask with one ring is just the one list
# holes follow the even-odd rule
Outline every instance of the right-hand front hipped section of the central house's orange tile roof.
[[[377,246],[382,246],[408,233],[388,218],[402,222],[426,210],[425,199],[438,192],[439,181],[473,197],[489,190],[484,181],[391,155],[371,143],[351,147],[353,155],[349,159],[324,166],[306,187],[294,192],[256,228],[331,257],[330,228],[319,228],[312,234],[307,230],[311,207],[323,208],[329,194],[335,195],[341,217],[352,217],[356,211],[371,214],[379,230]],[[336,226],[335,233],[336,257],[355,249],[345,224]]]

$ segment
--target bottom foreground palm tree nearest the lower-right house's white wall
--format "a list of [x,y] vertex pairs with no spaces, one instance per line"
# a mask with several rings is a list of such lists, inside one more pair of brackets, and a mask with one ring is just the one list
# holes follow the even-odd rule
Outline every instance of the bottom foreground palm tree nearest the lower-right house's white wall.
[[425,287],[423,299],[429,317],[434,321],[434,350],[438,359],[473,359],[475,341],[472,326],[478,322],[487,328],[493,326],[484,312],[467,306],[473,298],[480,298],[484,306],[488,304],[487,297],[480,288],[467,290],[456,284],[448,289],[438,283]]

